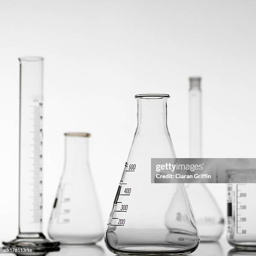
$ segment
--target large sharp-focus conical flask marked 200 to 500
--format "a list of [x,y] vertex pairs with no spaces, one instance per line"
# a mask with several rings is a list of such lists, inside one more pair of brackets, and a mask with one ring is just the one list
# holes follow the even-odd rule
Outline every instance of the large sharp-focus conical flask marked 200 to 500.
[[[105,243],[118,254],[191,253],[198,246],[199,236],[184,185],[151,183],[151,158],[175,158],[166,122],[169,95],[135,97],[138,126],[110,213]],[[179,206],[178,215],[177,210],[170,210],[172,205]]]

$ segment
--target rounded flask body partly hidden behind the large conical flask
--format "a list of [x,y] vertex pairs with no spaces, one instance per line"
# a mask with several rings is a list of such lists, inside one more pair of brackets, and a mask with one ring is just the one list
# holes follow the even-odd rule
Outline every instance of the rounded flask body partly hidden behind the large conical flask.
[[[187,184],[201,242],[217,241],[223,233],[222,212],[205,184]],[[202,203],[203,202],[203,203]]]

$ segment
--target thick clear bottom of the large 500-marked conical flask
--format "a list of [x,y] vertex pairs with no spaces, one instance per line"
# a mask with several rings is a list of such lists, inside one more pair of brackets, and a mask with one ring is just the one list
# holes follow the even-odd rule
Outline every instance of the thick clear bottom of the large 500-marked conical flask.
[[199,238],[193,233],[169,233],[161,229],[136,232],[123,228],[107,232],[105,244],[109,251],[118,255],[187,255],[197,249]]

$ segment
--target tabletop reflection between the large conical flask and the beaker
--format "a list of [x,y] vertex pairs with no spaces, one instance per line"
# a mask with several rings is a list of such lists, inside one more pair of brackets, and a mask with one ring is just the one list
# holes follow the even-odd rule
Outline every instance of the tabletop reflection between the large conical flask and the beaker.
[[223,249],[218,242],[205,242],[200,243],[197,251],[191,254],[191,256],[224,256]]

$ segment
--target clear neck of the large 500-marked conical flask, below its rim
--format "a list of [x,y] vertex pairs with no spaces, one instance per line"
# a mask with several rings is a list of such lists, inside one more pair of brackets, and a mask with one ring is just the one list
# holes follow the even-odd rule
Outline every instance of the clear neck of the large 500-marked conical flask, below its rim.
[[166,97],[137,98],[138,127],[136,133],[147,133],[156,136],[167,131],[167,105]]

